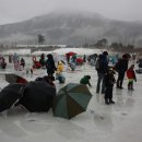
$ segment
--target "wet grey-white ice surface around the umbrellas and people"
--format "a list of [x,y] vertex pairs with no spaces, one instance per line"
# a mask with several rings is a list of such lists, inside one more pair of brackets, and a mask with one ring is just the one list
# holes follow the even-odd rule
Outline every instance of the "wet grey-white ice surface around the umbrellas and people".
[[[46,74],[46,70],[35,70],[34,74],[16,72],[10,69],[0,71],[0,87],[5,72],[15,72],[28,81]],[[68,120],[48,113],[28,113],[21,107],[13,107],[7,114],[0,114],[0,142],[142,142],[142,74],[137,74],[134,91],[127,90],[125,79],[123,90],[114,87],[115,105],[105,105],[104,95],[96,94],[97,74],[94,67],[85,64],[74,72],[68,68],[63,74],[64,84],[56,81],[57,91],[68,83],[79,83],[83,75],[91,75],[93,87],[88,87],[93,97],[87,110]],[[116,74],[117,78],[117,74]]]

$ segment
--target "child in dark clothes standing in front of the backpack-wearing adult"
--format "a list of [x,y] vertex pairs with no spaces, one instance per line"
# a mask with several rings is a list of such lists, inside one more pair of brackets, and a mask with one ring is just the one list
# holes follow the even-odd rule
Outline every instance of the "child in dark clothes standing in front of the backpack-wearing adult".
[[113,100],[113,87],[116,83],[115,76],[114,76],[114,70],[110,68],[108,72],[105,74],[104,82],[105,82],[105,104],[115,104]]

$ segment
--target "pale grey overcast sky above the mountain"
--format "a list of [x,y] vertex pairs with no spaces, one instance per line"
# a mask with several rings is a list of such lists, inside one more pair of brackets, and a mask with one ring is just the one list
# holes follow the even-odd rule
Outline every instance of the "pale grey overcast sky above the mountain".
[[142,0],[0,0],[0,24],[27,20],[58,9],[85,10],[109,19],[142,21]]

